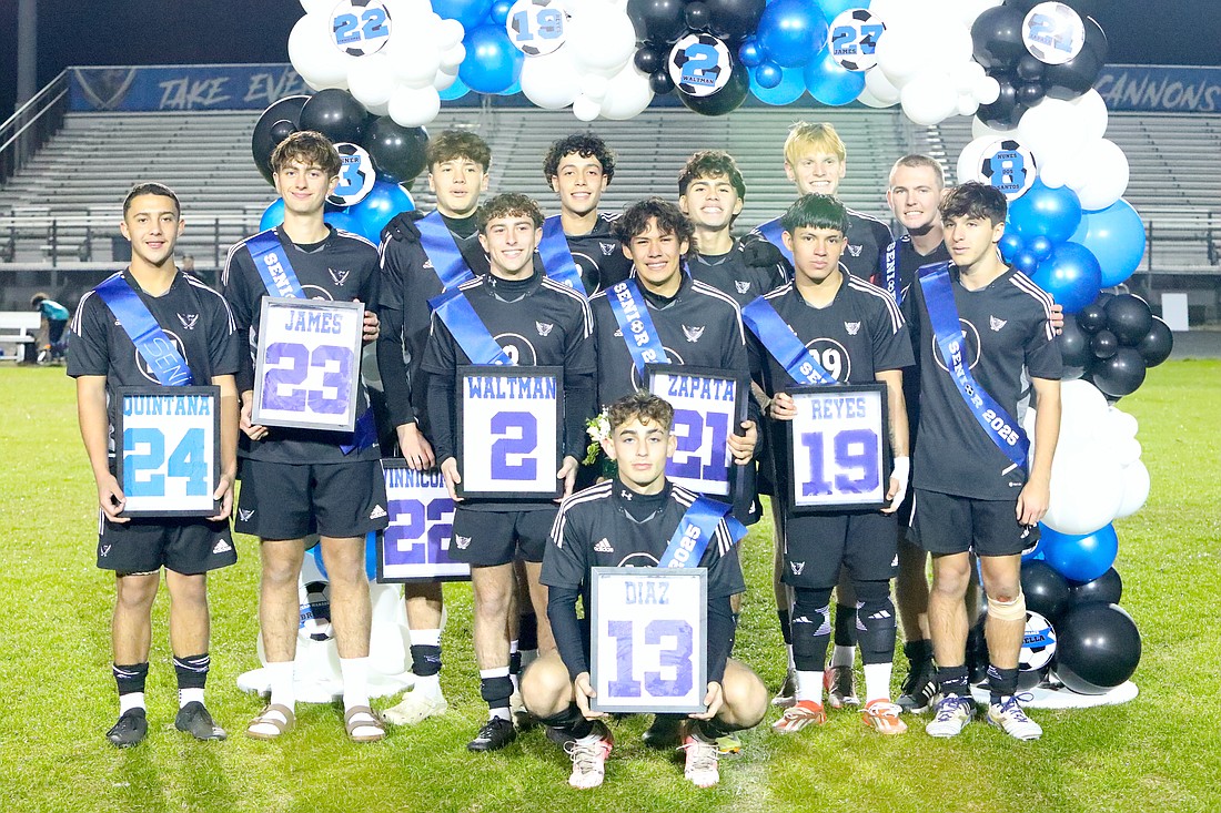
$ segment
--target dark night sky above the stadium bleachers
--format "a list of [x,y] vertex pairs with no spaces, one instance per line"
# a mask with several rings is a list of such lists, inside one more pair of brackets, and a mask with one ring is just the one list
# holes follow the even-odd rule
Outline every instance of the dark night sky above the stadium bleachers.
[[[38,85],[68,65],[287,62],[295,0],[39,0]],[[1216,0],[1089,0],[1109,62],[1221,65]],[[0,0],[0,118],[12,111],[17,0]]]

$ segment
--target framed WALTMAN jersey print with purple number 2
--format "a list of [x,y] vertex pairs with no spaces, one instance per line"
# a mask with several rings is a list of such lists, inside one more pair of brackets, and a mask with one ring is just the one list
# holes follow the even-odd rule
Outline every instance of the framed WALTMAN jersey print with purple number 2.
[[458,460],[463,498],[554,499],[563,463],[563,367],[458,367]]

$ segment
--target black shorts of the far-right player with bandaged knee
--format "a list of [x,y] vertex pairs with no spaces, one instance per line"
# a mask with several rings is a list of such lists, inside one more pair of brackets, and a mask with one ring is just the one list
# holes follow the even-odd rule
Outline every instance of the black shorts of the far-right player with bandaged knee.
[[1039,538],[1038,526],[1017,521],[1017,498],[974,499],[916,490],[908,538],[932,554],[974,552],[980,557],[1012,557]]

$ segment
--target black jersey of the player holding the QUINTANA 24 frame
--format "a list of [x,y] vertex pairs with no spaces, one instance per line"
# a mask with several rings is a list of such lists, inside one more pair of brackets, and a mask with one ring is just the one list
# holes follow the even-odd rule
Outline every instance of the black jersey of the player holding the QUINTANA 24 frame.
[[[187,360],[195,385],[210,385],[215,376],[237,374],[242,342],[233,314],[216,291],[193,276],[179,272],[164,294],[150,297],[136,282],[131,271],[120,273]],[[72,320],[67,374],[73,378],[106,376],[106,409],[111,431],[120,408],[116,397],[118,387],[160,386],[144,356],[136,349],[127,331],[96,289],[81,298]]]

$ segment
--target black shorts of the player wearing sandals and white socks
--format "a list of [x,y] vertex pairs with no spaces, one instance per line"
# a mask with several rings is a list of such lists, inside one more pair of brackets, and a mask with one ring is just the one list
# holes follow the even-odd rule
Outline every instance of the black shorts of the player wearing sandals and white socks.
[[291,464],[242,460],[233,530],[264,540],[363,537],[389,524],[380,460]]

